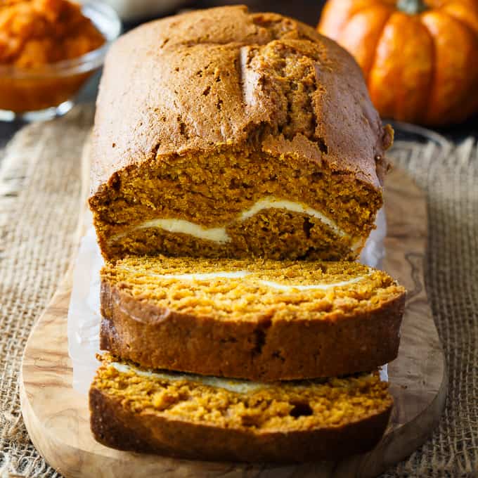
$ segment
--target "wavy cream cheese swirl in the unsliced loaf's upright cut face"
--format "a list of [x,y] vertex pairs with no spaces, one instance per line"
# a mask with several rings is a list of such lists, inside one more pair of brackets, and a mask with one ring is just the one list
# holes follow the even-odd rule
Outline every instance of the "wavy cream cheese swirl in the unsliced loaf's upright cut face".
[[[323,224],[325,224],[325,226],[328,226],[335,234],[337,234],[341,238],[350,238],[350,235],[346,233],[342,228],[340,228],[335,221],[325,216],[325,214],[318,211],[317,209],[308,207],[300,202],[278,199],[273,196],[269,198],[262,198],[255,202],[252,207],[246,209],[239,214],[238,220],[245,221],[246,219],[253,217],[255,214],[263,211],[264,209],[286,209],[288,211],[297,212],[299,214],[307,214],[308,216],[319,219]],[[141,224],[129,228],[129,230],[125,231],[124,233],[113,235],[108,242],[115,242],[115,240],[123,238],[125,235],[131,233],[131,231],[137,231],[139,229],[144,228],[160,228],[170,233],[182,233],[192,235],[195,238],[210,240],[214,243],[219,244],[231,242],[231,236],[228,235],[226,231],[226,226],[207,228],[201,226],[200,224],[186,221],[185,219],[151,219],[150,221],[144,221]],[[354,242],[350,246],[350,249],[355,252],[363,245],[365,239],[366,238],[363,237],[354,240]]]

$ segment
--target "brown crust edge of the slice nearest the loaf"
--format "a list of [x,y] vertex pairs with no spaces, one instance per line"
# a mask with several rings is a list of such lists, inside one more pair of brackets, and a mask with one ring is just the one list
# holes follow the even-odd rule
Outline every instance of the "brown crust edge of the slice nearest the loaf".
[[332,320],[217,321],[136,299],[103,280],[103,350],[141,366],[249,380],[332,377],[396,358],[405,294]]

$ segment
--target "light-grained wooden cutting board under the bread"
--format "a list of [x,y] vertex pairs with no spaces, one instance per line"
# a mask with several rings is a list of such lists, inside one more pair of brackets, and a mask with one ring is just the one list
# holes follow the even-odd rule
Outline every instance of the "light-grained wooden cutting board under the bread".
[[72,270],[34,326],[20,377],[22,414],[30,437],[65,477],[375,477],[427,439],[446,399],[446,369],[423,280],[427,212],[423,193],[403,172],[387,179],[385,269],[408,290],[399,358],[389,364],[394,411],[380,444],[340,462],[288,467],[211,463],[117,451],[94,441],[87,397],[72,389],[67,309]]

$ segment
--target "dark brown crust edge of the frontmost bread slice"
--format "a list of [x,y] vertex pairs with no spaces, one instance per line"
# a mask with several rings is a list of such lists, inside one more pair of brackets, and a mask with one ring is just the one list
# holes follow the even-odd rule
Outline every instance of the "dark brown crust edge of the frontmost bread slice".
[[91,430],[96,440],[120,450],[199,460],[297,463],[335,460],[364,453],[382,437],[392,406],[342,427],[255,432],[226,429],[155,413],[134,413],[118,398],[93,385],[89,392]]

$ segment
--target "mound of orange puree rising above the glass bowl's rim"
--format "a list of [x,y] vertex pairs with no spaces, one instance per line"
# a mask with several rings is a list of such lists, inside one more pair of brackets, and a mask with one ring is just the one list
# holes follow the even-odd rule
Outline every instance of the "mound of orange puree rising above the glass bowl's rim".
[[0,1],[0,64],[32,68],[77,58],[105,43],[79,4]]

